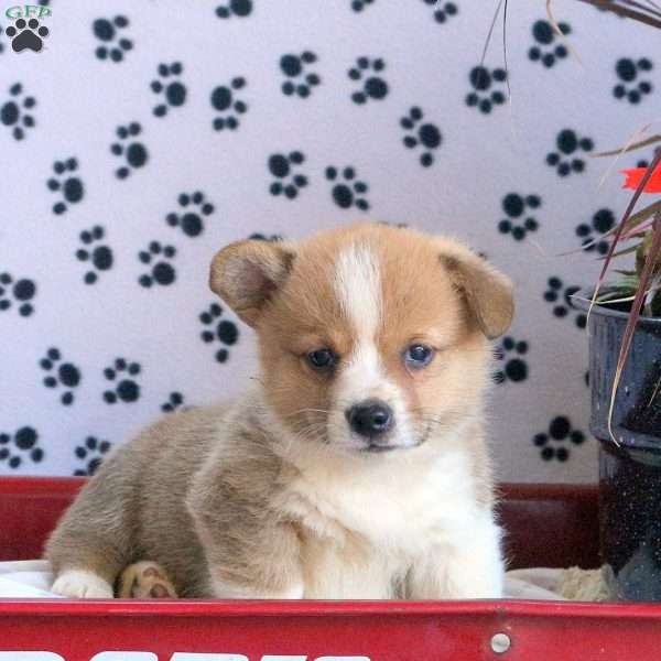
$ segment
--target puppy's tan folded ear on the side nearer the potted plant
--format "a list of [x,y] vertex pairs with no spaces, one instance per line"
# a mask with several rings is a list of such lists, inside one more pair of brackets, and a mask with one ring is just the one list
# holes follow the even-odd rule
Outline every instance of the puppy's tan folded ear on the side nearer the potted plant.
[[514,315],[511,280],[460,245],[446,246],[441,261],[480,330],[489,339],[502,335]]

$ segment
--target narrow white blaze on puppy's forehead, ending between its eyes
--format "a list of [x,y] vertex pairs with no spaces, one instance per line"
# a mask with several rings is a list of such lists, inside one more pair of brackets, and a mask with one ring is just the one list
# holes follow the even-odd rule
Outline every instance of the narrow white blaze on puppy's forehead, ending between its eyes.
[[381,321],[381,272],[368,246],[354,243],[339,253],[335,293],[358,344],[373,343]]

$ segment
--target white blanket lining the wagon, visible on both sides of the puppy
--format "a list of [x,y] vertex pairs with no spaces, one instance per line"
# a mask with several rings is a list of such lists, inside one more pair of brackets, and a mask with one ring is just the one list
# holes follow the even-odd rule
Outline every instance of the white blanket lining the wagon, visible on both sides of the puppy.
[[[563,599],[555,592],[564,570],[533,568],[508,572],[505,596],[511,599]],[[45,560],[0,562],[0,598],[59,598],[51,592],[53,574]]]

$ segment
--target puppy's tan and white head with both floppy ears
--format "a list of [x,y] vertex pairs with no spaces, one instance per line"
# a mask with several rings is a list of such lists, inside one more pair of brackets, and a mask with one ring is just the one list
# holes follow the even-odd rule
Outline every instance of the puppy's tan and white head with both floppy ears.
[[467,248],[382,225],[232,243],[210,285],[257,330],[292,442],[365,456],[442,443],[479,411],[487,339],[513,313],[510,281]]

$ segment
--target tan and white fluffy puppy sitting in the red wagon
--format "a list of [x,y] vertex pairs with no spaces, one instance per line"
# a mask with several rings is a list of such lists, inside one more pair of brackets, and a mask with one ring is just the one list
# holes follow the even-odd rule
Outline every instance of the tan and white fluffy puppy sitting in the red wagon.
[[47,544],[54,592],[112,597],[149,560],[180,597],[499,597],[483,397],[510,281],[359,224],[232,243],[210,286],[257,332],[259,384],[107,458]]

